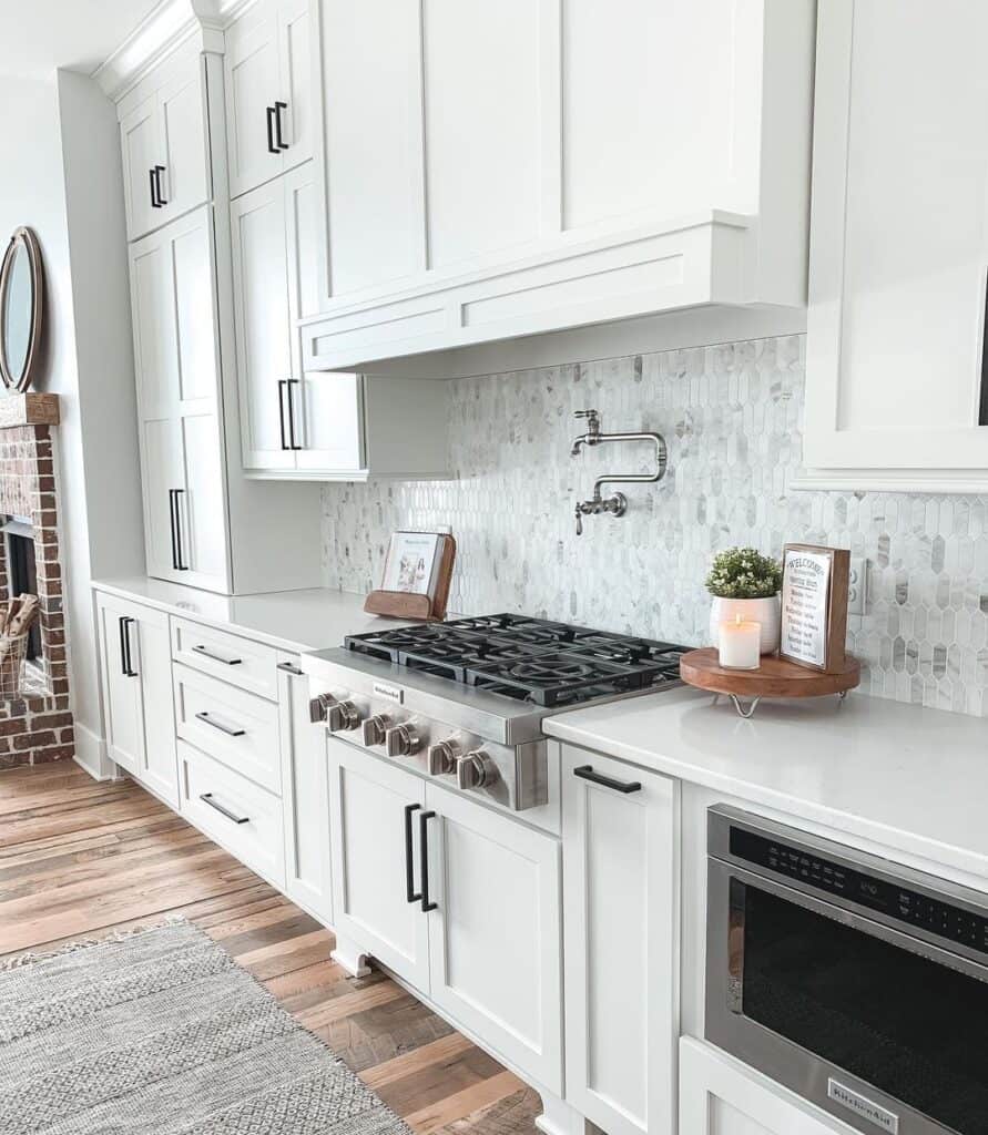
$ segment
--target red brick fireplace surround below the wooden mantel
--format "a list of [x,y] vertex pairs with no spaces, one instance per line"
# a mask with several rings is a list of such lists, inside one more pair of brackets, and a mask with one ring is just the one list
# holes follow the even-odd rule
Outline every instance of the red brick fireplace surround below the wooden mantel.
[[[18,698],[0,701],[0,768],[75,754],[58,540],[58,490],[50,426],[0,429],[0,514],[30,519],[40,604],[41,653]],[[0,600],[9,598],[0,540]]]

